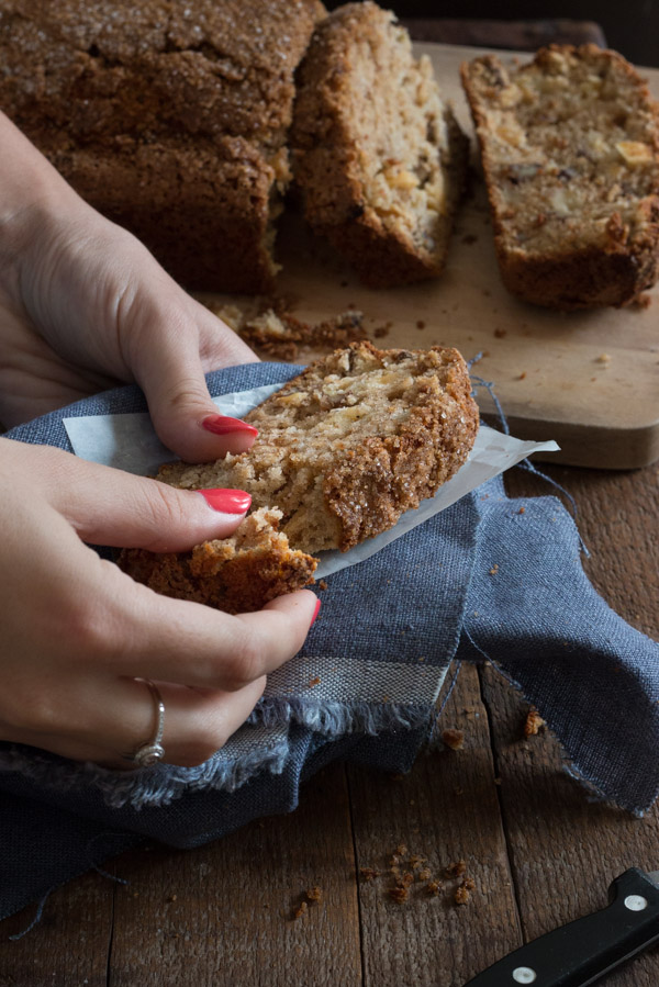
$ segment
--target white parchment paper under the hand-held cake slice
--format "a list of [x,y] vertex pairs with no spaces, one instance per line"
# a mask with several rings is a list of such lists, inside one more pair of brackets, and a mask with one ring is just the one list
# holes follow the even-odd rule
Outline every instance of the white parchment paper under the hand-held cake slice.
[[[215,399],[215,404],[224,415],[242,418],[247,412],[278,391],[283,384],[268,384],[252,391],[238,391]],[[150,417],[145,414],[90,415],[80,418],[65,418],[67,430],[76,456],[91,462],[100,462],[115,469],[126,470],[143,476],[155,475],[158,467],[176,457],[158,439]],[[348,552],[321,552],[316,579],[323,579],[348,565],[362,562],[380,551],[384,546],[400,538],[406,531],[423,524],[433,515],[450,507],[465,494],[470,493],[499,473],[515,466],[532,452],[554,452],[558,450],[554,441],[530,442],[503,435],[487,425],[481,425],[471,455],[456,475],[439,487],[434,497],[423,501],[416,511],[403,514],[398,524],[377,538],[358,545]]]

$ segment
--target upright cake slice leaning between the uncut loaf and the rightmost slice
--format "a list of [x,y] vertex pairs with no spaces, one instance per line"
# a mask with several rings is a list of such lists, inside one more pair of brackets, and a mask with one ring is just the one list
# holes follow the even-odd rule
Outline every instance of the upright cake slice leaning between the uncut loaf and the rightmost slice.
[[373,288],[440,273],[468,142],[394,15],[348,3],[297,76],[291,147],[310,225]]

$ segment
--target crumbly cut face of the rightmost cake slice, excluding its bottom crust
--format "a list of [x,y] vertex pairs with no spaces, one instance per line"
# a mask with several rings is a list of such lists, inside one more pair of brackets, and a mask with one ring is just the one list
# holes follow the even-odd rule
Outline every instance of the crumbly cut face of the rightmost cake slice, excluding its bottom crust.
[[484,167],[510,248],[549,256],[643,235],[659,190],[659,128],[647,89],[619,56],[547,48],[510,71],[495,56],[467,70]]

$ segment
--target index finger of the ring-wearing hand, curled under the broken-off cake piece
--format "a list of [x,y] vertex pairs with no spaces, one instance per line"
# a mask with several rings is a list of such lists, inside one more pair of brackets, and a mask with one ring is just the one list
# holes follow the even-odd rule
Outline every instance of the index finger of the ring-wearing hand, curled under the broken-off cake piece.
[[263,610],[232,616],[158,596],[113,568],[105,592],[121,632],[104,661],[126,677],[235,692],[293,658],[316,612],[314,594],[298,590]]

